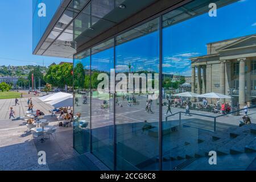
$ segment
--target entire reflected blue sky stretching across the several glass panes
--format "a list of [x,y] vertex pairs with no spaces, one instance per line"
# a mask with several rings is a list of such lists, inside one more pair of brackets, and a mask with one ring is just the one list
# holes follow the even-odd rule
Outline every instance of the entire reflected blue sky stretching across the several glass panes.
[[[191,57],[207,55],[207,44],[256,33],[256,1],[244,0],[163,29],[163,73],[191,76]],[[92,55],[92,69],[109,71],[113,48]],[[159,72],[159,32],[116,47],[116,72]],[[109,63],[110,60],[110,63]],[[83,60],[84,61],[84,60]]]

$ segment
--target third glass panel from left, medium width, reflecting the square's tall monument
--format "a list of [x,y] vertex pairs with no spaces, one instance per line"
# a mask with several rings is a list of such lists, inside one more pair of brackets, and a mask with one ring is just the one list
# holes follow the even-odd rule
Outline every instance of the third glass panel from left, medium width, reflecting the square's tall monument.
[[117,169],[159,169],[159,19],[116,38]]

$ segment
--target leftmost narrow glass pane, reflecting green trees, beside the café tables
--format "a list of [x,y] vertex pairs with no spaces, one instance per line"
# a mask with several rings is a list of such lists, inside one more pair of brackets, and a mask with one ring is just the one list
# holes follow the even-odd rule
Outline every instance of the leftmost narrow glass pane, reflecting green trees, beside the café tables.
[[90,50],[74,56],[73,146],[80,154],[90,151]]

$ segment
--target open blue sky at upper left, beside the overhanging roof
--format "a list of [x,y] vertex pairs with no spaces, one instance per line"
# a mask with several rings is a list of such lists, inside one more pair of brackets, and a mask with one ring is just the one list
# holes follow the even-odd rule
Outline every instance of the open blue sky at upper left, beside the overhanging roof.
[[32,55],[32,0],[1,0],[0,10],[0,65],[43,65],[43,60],[46,66],[72,62]]

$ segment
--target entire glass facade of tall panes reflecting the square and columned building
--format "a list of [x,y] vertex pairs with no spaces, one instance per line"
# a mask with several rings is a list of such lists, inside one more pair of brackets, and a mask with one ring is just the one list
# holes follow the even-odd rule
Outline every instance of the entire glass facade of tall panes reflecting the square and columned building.
[[255,5],[192,1],[75,55],[75,149],[117,170],[250,169]]

